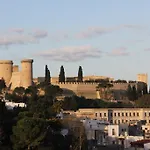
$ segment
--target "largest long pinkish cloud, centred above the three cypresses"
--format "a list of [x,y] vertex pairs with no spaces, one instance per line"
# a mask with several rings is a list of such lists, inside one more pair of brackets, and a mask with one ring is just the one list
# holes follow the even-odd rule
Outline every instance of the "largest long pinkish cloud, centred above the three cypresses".
[[85,46],[67,46],[58,49],[50,49],[36,54],[36,56],[54,61],[75,62],[87,58],[99,58],[102,52],[89,45]]

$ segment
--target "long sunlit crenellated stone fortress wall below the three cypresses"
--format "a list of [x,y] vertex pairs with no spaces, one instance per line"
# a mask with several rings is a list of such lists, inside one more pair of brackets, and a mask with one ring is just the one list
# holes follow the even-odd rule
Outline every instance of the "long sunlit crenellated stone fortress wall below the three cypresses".
[[[67,78],[67,77],[66,77]],[[77,78],[77,77],[72,77]],[[109,79],[109,81],[113,81],[113,78],[109,78],[106,76],[84,76],[83,81],[88,80],[95,80],[95,79]],[[39,77],[35,79],[35,82],[42,82],[44,81],[44,77]],[[70,91],[70,94],[75,93],[78,96],[84,96],[89,99],[96,99],[99,98],[99,92],[96,91],[96,86],[98,83],[95,82],[65,82],[59,83],[58,77],[52,77],[51,83],[53,85],[58,85],[60,88]],[[128,85],[131,86],[142,86],[142,83],[135,82],[135,83],[112,83],[113,84],[113,91],[115,92],[116,99],[120,99],[121,95],[125,95],[125,92],[128,88]],[[71,92],[72,91],[72,92]]]

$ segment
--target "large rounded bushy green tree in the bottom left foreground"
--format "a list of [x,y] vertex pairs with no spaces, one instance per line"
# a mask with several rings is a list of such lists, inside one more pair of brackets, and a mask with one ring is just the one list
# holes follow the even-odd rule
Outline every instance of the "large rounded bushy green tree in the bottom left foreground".
[[44,119],[25,117],[19,120],[11,138],[14,150],[38,147],[46,137],[47,127]]

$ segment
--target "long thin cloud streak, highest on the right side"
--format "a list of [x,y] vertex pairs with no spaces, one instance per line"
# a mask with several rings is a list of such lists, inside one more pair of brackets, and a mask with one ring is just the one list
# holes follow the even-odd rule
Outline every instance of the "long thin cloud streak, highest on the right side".
[[130,24],[125,24],[125,25],[118,25],[118,26],[113,26],[113,27],[90,27],[86,29],[85,31],[82,31],[77,34],[77,38],[91,38],[94,36],[100,36],[103,34],[108,34],[113,31],[117,31],[120,29],[143,29],[144,27],[139,26],[139,25],[130,25]]

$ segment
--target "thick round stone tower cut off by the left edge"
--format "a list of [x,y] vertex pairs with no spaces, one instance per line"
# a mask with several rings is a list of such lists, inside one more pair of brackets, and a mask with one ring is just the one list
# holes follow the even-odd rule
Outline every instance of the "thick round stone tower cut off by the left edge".
[[9,85],[12,76],[13,62],[11,60],[0,60],[0,78],[5,80],[6,86]]

